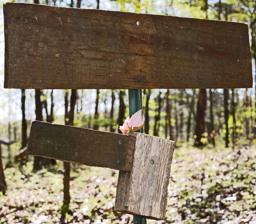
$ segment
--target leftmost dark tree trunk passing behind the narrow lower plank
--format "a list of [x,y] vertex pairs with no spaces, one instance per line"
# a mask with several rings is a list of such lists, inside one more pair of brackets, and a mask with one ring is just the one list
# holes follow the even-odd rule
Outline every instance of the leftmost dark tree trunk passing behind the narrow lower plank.
[[[43,121],[41,90],[35,90],[35,119]],[[42,169],[42,157],[34,156],[34,172]]]

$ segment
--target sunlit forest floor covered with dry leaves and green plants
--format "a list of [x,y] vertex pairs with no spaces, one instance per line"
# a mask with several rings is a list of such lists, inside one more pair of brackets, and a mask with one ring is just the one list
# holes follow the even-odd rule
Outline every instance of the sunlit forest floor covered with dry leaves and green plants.
[[[32,162],[5,169],[0,224],[58,223],[63,163],[32,173]],[[128,224],[113,210],[118,171],[73,164],[68,223]],[[166,221],[148,224],[256,224],[256,146],[235,149],[182,146],[172,162]]]

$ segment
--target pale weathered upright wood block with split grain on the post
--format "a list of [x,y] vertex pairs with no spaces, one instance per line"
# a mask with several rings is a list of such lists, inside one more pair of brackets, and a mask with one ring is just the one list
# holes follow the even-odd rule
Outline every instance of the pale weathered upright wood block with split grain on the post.
[[[174,142],[137,132],[131,172],[119,171],[115,210],[165,219]],[[154,160],[152,164],[151,160]]]

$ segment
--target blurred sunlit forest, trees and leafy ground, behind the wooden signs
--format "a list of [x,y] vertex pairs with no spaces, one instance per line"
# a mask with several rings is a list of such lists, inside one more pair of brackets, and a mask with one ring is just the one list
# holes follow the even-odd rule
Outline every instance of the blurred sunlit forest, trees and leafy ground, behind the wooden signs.
[[[128,90],[3,89],[5,2],[0,137],[14,143],[1,145],[0,223],[131,223],[131,215],[113,211],[118,172],[63,166],[24,151],[35,119],[119,132],[128,116]],[[143,90],[143,119],[144,133],[176,142],[166,223],[256,224],[256,0],[19,2],[247,23],[253,88]]]

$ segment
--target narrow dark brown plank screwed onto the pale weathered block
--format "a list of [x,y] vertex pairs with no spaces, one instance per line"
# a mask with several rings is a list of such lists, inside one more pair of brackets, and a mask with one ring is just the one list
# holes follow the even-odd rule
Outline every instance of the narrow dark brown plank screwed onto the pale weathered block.
[[136,137],[32,122],[27,154],[131,171]]

